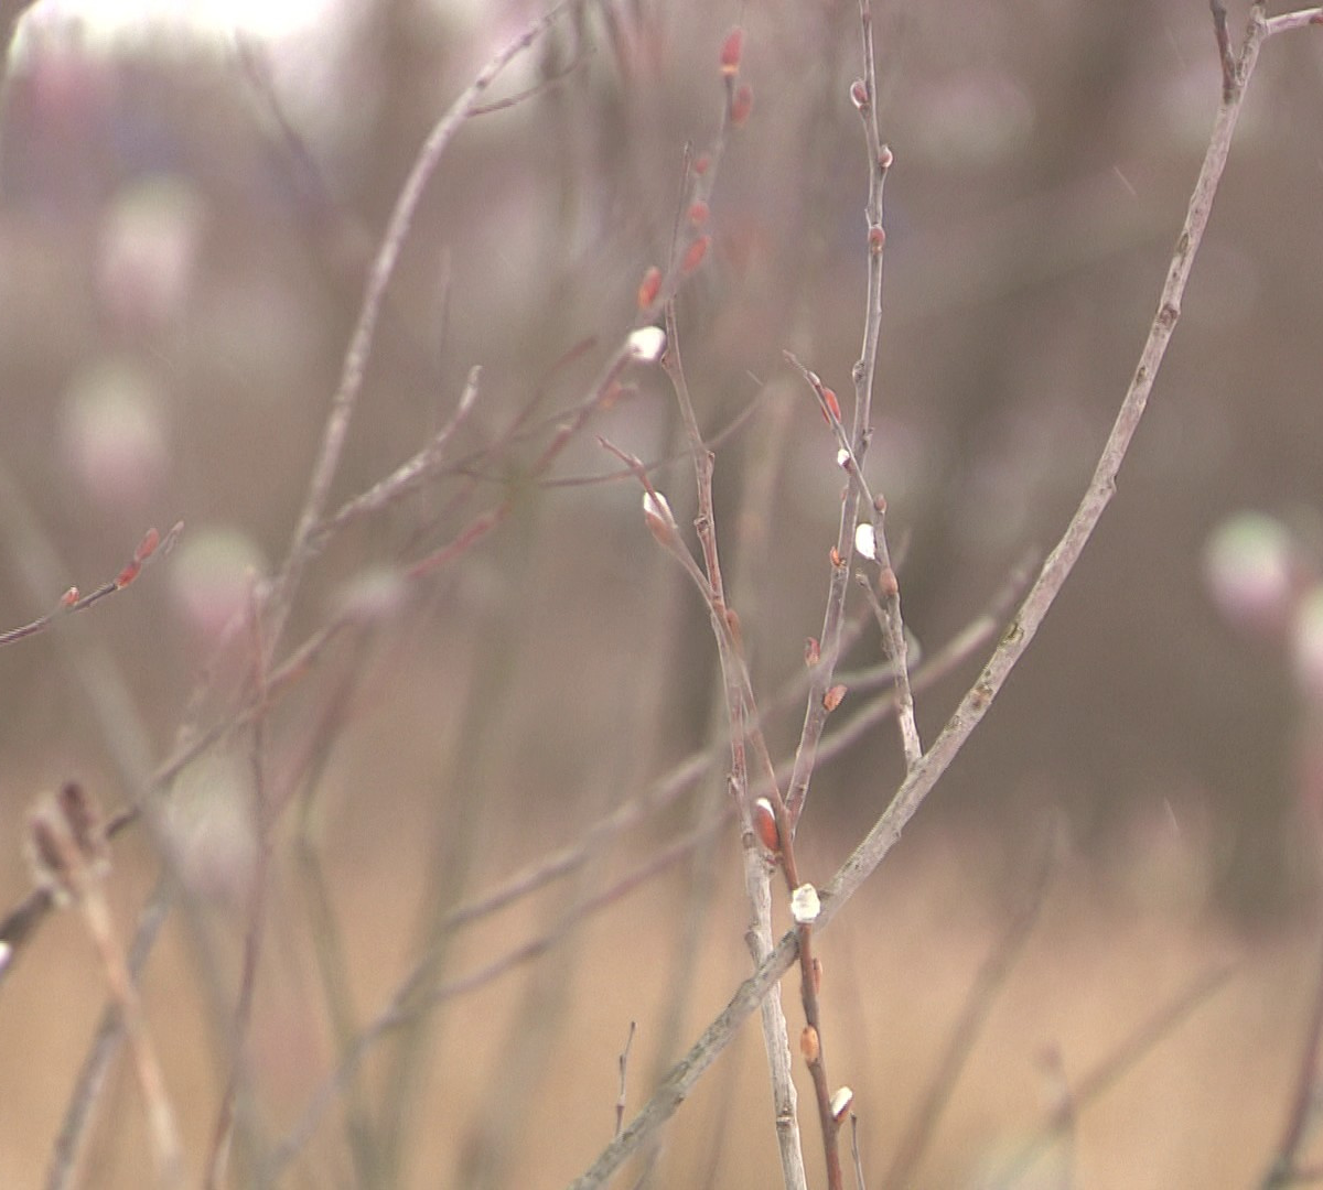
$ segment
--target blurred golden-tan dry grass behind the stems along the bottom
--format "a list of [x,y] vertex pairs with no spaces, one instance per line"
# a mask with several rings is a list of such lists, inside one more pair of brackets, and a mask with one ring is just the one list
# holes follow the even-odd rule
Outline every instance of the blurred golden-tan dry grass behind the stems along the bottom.
[[[975,838],[950,837],[921,845],[922,854],[898,862],[824,935],[833,1067],[867,1105],[860,1116],[869,1185],[882,1183],[894,1145],[913,1121],[917,1092],[933,1078],[976,972],[1004,928],[986,883],[971,878],[983,846]],[[401,865],[398,846],[378,849],[343,862],[335,874],[363,1004],[390,993],[406,957],[398,935],[382,923],[417,887],[421,873],[413,858]],[[722,885],[722,907],[704,933],[685,1035],[722,1005],[745,971],[738,885]],[[126,914],[135,903],[132,891],[142,889],[124,889],[116,898]],[[664,976],[675,964],[681,899],[677,882],[660,882],[585,926],[569,944],[573,969],[554,1037],[541,1062],[520,1068],[533,1103],[517,1129],[504,1134],[511,1185],[564,1185],[609,1138],[615,1063],[630,1021],[640,1027],[631,1066],[635,1101],[634,1088],[658,1056],[651,1042],[672,992]],[[536,914],[515,914],[470,939],[456,965],[480,965],[493,948],[537,927]],[[279,960],[259,996],[253,1039],[269,1119],[288,1123],[329,1055],[327,1022],[311,1002],[308,941],[295,923],[282,923],[275,932]],[[1073,1137],[1049,1149],[1016,1185],[1256,1183],[1295,1076],[1316,965],[1312,945],[1311,931],[1246,941],[1188,908],[1154,910],[1066,866],[1053,879],[1023,957],[991,1004],[912,1185],[998,1185],[980,1177],[991,1177],[998,1162],[1046,1124],[1057,1092],[1046,1055],[1060,1055],[1066,1075],[1081,1079],[1126,1046],[1164,1004],[1229,961],[1234,967],[1220,990],[1082,1108]],[[200,1023],[205,1009],[185,990],[194,978],[187,947],[171,939],[152,963],[146,996],[185,1140],[191,1152],[200,1152],[221,1088],[216,1042]],[[500,1116],[503,1054],[511,1037],[527,1029],[520,1013],[533,978],[516,972],[448,1008],[417,1107],[421,1125],[407,1185],[468,1185],[456,1170],[487,1117]],[[789,1002],[792,996],[787,985]],[[70,1071],[102,1005],[86,940],[71,920],[46,931],[7,998],[0,1043],[16,1060],[5,1063],[0,1083],[4,1175],[8,1185],[34,1185]],[[143,1185],[151,1162],[139,1140],[143,1125],[127,1070],[114,1080],[111,1103],[90,1146],[89,1168],[97,1170],[91,1183]],[[775,1183],[766,1109],[761,1039],[746,1029],[673,1121],[662,1183]],[[343,1168],[332,1115],[311,1146],[304,1175],[295,1181],[327,1185]]]

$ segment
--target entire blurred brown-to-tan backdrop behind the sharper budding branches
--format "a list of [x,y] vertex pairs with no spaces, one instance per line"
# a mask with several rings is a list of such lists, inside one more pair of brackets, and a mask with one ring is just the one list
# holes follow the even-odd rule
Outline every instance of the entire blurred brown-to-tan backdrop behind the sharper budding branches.
[[[849,391],[857,7],[583,0],[500,77],[493,103],[520,102],[470,120],[422,197],[328,509],[446,426],[480,365],[476,401],[429,483],[329,537],[274,643],[245,611],[288,550],[392,206],[441,114],[540,9],[24,8],[0,13],[0,628],[114,578],[148,526],[185,528],[131,588],[0,652],[3,904],[30,889],[40,791],[77,779],[122,807],[214,729],[161,787],[189,908],[144,974],[191,1175],[230,1076],[262,889],[230,1185],[262,1183],[273,1152],[280,1185],[562,1185],[611,1136],[630,1022],[626,1119],[749,960],[737,832],[717,821],[706,614],[597,443],[658,463],[688,526],[692,467],[660,372],[632,369],[550,465],[542,452],[636,325],[644,270],[667,262],[685,144],[717,135],[718,50],[740,22],[754,107],[720,160],[680,348],[718,443],[718,537],[769,740],[791,756],[841,475],[782,350]],[[1004,608],[1073,512],[1221,82],[1193,0],[878,4],[875,20],[896,165],[867,471],[922,662]],[[856,1090],[869,1185],[1240,1186],[1271,1160],[1323,924],[1320,102],[1318,37],[1271,41],[1098,533],[984,726],[823,937],[828,1068]],[[405,580],[496,509],[492,532]],[[881,653],[861,599],[851,617],[857,672]],[[245,719],[263,673],[329,624],[258,726]],[[990,648],[922,690],[925,740]],[[831,726],[871,697],[847,695]],[[811,879],[901,772],[890,722],[819,768],[799,834]],[[613,813],[627,829],[599,825]],[[160,869],[153,837],[139,825],[114,845],[126,940]],[[560,879],[455,916],[564,849],[577,862]],[[1011,960],[992,986],[990,956]],[[1072,1088],[1224,969],[1046,1157],[1005,1174]],[[365,1047],[318,1108],[410,973],[441,989],[437,1009]],[[0,1183],[44,1177],[102,986],[61,914],[0,988]],[[795,1034],[792,981],[786,1004]],[[925,1108],[971,1015],[950,1099]],[[775,1183],[746,1034],[665,1132],[652,1185]],[[120,1059],[75,1183],[143,1185],[139,1112]],[[822,1185],[811,1111],[803,1127]]]

